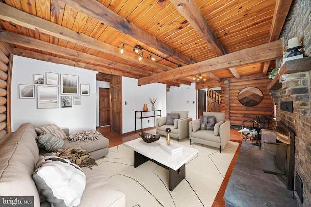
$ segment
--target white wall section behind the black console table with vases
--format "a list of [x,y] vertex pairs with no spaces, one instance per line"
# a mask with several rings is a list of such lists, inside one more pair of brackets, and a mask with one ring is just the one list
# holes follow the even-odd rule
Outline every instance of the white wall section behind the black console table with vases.
[[[138,86],[137,79],[123,77],[122,79],[123,133],[134,131],[135,121],[136,121],[136,129],[137,130],[141,129],[141,119],[135,120],[135,111],[143,111],[142,108],[145,103],[148,106],[148,111],[151,111],[152,104],[149,103],[148,97],[157,98],[154,104],[155,110],[162,110],[162,116],[165,116],[166,115],[165,84],[152,83],[143,86]],[[144,114],[144,116],[145,115],[146,114]],[[143,121],[142,123],[143,128],[154,127],[153,118],[142,119],[142,121]]]

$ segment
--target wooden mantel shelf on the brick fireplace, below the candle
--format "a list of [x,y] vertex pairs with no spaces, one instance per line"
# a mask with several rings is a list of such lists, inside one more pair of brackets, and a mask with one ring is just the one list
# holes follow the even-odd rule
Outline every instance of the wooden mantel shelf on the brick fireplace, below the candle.
[[311,70],[311,57],[286,61],[281,67],[280,72],[276,74],[274,79],[268,85],[268,91],[282,88],[282,83],[279,79],[283,74],[305,72],[309,70]]

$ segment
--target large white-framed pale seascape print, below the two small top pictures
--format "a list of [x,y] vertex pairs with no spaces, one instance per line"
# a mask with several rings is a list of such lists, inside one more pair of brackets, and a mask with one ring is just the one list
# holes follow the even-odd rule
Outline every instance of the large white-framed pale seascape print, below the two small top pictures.
[[58,108],[58,90],[59,88],[54,86],[37,86],[38,108]]

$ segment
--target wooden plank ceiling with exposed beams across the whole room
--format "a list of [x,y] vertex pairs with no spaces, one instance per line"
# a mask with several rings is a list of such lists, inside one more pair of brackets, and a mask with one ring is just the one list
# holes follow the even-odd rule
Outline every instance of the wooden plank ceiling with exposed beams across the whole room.
[[[137,78],[138,85],[266,76],[283,55],[276,40],[291,2],[0,0],[0,40],[13,54],[96,70],[103,79]],[[198,74],[203,79],[194,80]]]

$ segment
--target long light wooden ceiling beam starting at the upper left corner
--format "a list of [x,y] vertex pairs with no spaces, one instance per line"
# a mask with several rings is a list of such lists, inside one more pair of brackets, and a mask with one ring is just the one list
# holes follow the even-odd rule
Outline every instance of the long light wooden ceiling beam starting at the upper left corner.
[[148,58],[143,58],[141,61],[138,61],[137,55],[133,53],[126,52],[124,54],[120,54],[120,48],[114,47],[100,40],[94,39],[80,32],[70,30],[69,28],[52,23],[37,16],[28,14],[4,3],[0,3],[0,19],[27,27],[38,32],[49,34],[54,37],[58,37],[69,42],[77,43],[85,47],[93,48],[104,53],[134,62],[136,64],[146,65],[161,71],[172,69],[171,67],[158,64],[152,60],[149,60]]

